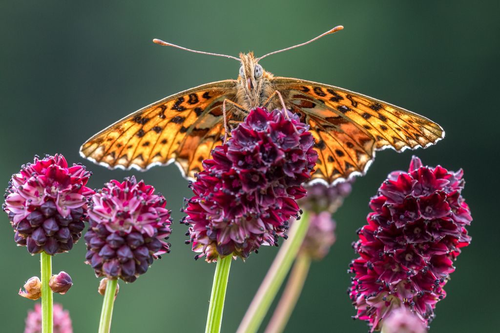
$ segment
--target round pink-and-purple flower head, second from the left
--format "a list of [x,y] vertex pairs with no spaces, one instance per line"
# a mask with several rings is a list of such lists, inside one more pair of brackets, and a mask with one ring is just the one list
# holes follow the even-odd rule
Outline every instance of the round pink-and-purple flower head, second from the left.
[[170,252],[163,241],[170,235],[170,211],[154,188],[137,182],[111,180],[92,196],[85,234],[86,263],[98,277],[133,282],[144,274],[153,259]]

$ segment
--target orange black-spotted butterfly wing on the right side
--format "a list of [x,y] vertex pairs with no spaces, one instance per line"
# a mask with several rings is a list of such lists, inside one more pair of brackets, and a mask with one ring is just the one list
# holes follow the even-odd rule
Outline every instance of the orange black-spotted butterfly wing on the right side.
[[427,147],[444,137],[429,119],[356,92],[286,77],[272,83],[310,125],[319,155],[313,179],[331,184],[363,175],[375,150]]

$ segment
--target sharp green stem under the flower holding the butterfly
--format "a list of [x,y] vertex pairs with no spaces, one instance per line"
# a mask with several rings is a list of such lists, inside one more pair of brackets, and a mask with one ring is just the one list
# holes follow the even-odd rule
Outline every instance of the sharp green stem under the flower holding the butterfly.
[[220,332],[222,322],[222,312],[224,311],[225,290],[229,269],[231,268],[232,255],[217,259],[215,274],[213,275],[212,294],[210,295],[210,305],[206,316],[205,333]]

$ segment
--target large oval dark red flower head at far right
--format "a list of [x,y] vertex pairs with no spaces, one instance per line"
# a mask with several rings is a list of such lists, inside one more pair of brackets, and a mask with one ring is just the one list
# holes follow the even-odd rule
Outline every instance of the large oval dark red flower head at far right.
[[422,166],[413,157],[409,171],[392,172],[371,198],[368,224],[353,245],[349,295],[356,318],[371,330],[401,306],[427,325],[460,248],[470,243],[472,220],[460,192],[462,171]]

